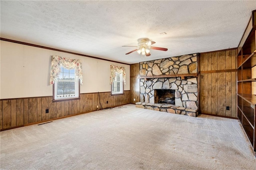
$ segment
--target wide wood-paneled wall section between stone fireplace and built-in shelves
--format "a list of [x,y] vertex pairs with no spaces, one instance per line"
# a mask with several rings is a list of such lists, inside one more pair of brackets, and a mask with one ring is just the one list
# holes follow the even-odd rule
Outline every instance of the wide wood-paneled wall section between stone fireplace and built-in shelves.
[[202,53],[199,65],[200,113],[237,117],[236,49]]

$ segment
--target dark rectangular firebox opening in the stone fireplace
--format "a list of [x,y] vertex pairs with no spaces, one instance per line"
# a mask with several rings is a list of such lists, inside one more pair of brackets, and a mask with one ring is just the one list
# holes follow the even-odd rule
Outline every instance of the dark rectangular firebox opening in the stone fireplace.
[[169,103],[175,105],[175,90],[155,89],[154,101],[155,103]]

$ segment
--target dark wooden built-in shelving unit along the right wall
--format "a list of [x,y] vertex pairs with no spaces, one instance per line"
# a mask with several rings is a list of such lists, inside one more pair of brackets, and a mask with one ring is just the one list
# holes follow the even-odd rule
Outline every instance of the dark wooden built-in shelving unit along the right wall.
[[252,67],[256,66],[256,10],[238,45],[237,109],[238,119],[246,132],[254,153],[256,151],[256,95],[252,94]]

